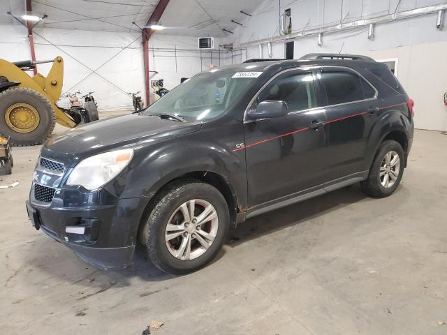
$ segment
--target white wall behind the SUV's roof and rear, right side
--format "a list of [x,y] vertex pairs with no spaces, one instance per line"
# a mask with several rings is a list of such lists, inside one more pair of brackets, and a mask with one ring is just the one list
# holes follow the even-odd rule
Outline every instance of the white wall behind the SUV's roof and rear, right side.
[[[416,6],[445,3],[442,0],[402,0],[397,11]],[[360,17],[376,17],[393,13],[398,0],[300,0],[281,1],[289,3],[282,9],[291,8],[293,32],[337,24],[340,17],[344,22]],[[251,40],[278,35],[279,1],[263,1],[258,9],[247,18],[243,28],[235,31],[235,45]],[[447,22],[444,22],[447,26]],[[343,48],[342,48],[343,47]],[[366,54],[375,59],[398,58],[397,77],[407,93],[416,102],[416,128],[444,131],[447,128],[447,107],[443,96],[447,91],[447,27],[436,28],[436,14],[415,17],[388,24],[380,24],[374,30],[374,40],[367,38],[367,27],[351,31],[323,35],[323,45],[317,37],[295,39],[294,57],[309,52],[336,52]],[[284,58],[284,42],[272,46],[274,58]],[[247,48],[247,59],[258,58],[258,46]],[[263,57],[268,57],[267,45],[263,45]],[[243,59],[244,60],[244,59]]]

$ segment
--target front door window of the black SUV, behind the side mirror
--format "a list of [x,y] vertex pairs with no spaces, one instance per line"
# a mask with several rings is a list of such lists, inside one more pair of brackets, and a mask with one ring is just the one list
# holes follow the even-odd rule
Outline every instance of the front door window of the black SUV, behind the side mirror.
[[273,80],[259,94],[257,103],[265,100],[285,101],[290,112],[316,107],[312,73],[288,75]]

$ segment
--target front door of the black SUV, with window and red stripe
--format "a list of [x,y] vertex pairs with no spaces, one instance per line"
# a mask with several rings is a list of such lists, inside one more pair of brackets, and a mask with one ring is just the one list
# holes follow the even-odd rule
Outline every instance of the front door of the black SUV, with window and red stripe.
[[311,71],[288,70],[270,82],[250,108],[285,101],[288,115],[244,121],[249,207],[293,198],[323,183],[325,111],[318,108]]

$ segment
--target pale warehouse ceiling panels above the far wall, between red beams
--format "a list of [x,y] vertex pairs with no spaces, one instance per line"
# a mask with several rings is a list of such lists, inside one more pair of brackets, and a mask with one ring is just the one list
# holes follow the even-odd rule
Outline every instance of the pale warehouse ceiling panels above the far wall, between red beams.
[[[144,27],[158,0],[32,0],[33,13],[47,15],[39,27],[90,31],[138,31]],[[165,30],[157,34],[228,36],[251,13],[258,0],[171,0],[161,17]],[[20,17],[25,0],[0,1],[0,24],[18,24],[8,11]]]

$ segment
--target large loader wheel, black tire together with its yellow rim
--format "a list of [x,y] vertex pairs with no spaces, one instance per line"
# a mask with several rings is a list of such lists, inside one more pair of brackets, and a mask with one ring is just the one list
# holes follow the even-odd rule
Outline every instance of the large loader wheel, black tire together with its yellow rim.
[[0,93],[0,133],[10,136],[11,144],[42,144],[55,124],[50,101],[37,91],[19,87]]

